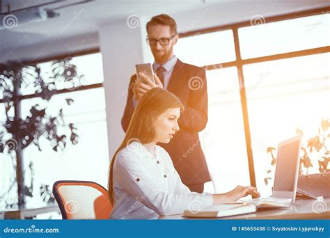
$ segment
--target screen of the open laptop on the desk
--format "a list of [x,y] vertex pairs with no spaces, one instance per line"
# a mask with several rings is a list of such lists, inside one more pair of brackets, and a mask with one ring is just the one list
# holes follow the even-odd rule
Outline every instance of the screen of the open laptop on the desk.
[[299,143],[299,140],[294,140],[278,146],[274,191],[294,191]]

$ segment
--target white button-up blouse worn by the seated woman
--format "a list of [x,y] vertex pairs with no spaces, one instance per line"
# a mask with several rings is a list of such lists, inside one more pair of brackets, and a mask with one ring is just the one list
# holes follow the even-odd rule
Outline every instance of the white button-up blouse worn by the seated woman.
[[151,219],[213,205],[211,193],[191,192],[159,145],[156,157],[134,141],[120,150],[113,165],[111,219]]

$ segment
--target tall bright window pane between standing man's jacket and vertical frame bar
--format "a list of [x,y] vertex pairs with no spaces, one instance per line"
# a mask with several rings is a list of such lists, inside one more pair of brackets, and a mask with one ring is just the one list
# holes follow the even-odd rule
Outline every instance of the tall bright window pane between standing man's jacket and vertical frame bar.
[[207,90],[209,119],[201,144],[214,187],[208,183],[205,189],[224,193],[237,184],[249,185],[237,68],[207,71]]

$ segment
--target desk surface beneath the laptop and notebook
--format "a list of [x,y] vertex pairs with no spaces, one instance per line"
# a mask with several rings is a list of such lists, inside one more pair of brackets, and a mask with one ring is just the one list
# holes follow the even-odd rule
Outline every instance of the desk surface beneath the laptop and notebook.
[[[159,219],[191,219],[182,214],[159,216]],[[320,200],[296,200],[290,208],[258,209],[255,213],[227,216],[217,219],[330,219],[330,198]]]

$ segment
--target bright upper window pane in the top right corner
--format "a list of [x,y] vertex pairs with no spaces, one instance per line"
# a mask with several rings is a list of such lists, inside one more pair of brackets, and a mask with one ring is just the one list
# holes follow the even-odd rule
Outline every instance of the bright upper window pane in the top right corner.
[[[267,21],[266,21],[267,22]],[[243,59],[330,45],[330,14],[300,17],[238,29]]]

